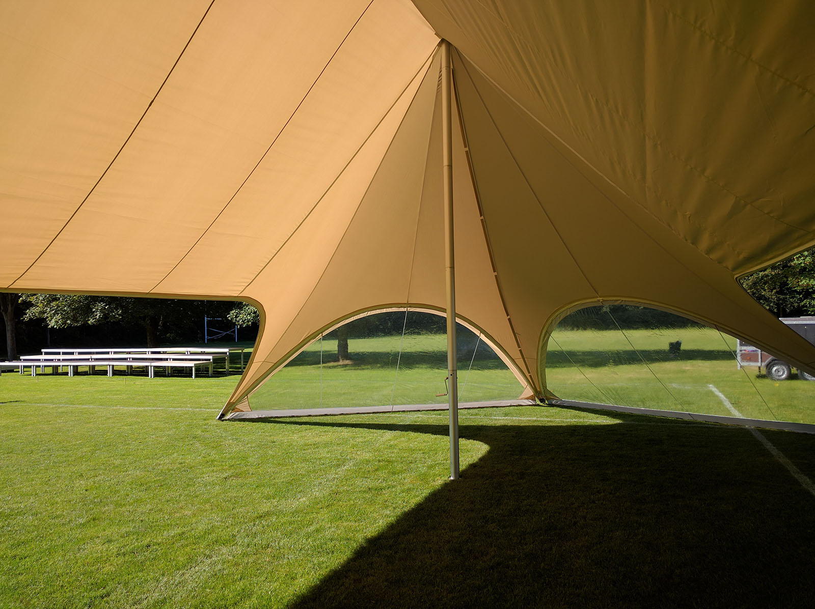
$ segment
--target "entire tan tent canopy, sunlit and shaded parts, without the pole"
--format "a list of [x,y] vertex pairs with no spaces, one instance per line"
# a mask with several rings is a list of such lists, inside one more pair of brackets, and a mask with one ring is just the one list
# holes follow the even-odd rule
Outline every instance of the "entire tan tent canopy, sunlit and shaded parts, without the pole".
[[0,2],[0,288],[249,300],[223,410],[360,313],[456,299],[526,392],[586,304],[815,374],[735,277],[815,243],[815,5]]

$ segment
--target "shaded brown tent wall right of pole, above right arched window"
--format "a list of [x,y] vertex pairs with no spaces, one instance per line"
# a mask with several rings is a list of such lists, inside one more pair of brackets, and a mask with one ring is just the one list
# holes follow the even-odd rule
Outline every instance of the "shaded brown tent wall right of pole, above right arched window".
[[[478,120],[474,108],[482,107],[488,112],[495,129],[493,135],[500,135],[498,142],[496,138],[487,139],[481,131],[471,129],[473,135],[469,138],[476,169],[479,158],[487,167],[498,169],[495,175],[479,171],[477,177],[488,227],[495,235],[496,261],[511,260],[517,245],[511,240],[511,227],[505,228],[504,239],[498,230],[500,224],[496,218],[506,217],[506,205],[500,214],[491,214],[490,207],[505,191],[500,186],[501,180],[525,182],[545,211],[546,221],[557,230],[557,239],[562,239],[563,247],[568,244],[569,255],[579,265],[580,274],[594,292],[594,297],[587,296],[588,292],[579,286],[575,289],[565,283],[552,284],[545,278],[519,285],[517,291],[508,284],[506,297],[511,312],[523,311],[524,306],[537,307],[537,315],[535,312],[513,315],[518,318],[516,329],[521,335],[540,331],[548,336],[559,318],[557,302],[625,300],[657,304],[685,313],[749,340],[751,344],[772,344],[768,350],[782,354],[787,361],[813,365],[815,348],[748,296],[729,269],[678,239],[598,177],[579,157],[552,142],[545,129],[541,129],[478,72],[472,79],[465,78],[473,74],[473,70],[467,69],[467,62],[462,66],[465,69],[457,72],[457,81],[461,83],[465,126]],[[473,85],[472,90],[469,85]],[[468,93],[464,94],[465,91]],[[474,96],[478,96],[480,103],[469,103],[472,101],[469,98]],[[484,119],[479,121],[481,125],[486,123]],[[504,145],[504,151],[511,153],[517,176],[510,168],[496,162],[500,144]],[[496,184],[493,186],[491,181]],[[509,187],[509,184],[505,186],[506,189]],[[493,192],[496,196],[491,196]],[[511,200],[518,204],[521,199],[516,195]],[[521,215],[526,221],[535,218],[530,211],[521,212]],[[539,234],[543,232],[540,226],[535,226],[534,230]],[[549,256],[556,248],[557,242],[553,239],[553,243],[531,250],[527,256]],[[546,261],[541,259],[539,264],[543,269]],[[511,271],[506,269],[508,266],[509,263],[499,265],[502,279],[512,278]],[[557,289],[554,302],[550,296],[553,288]],[[540,340],[539,370],[544,388],[545,347],[545,340]],[[538,353],[538,349],[533,353]]]

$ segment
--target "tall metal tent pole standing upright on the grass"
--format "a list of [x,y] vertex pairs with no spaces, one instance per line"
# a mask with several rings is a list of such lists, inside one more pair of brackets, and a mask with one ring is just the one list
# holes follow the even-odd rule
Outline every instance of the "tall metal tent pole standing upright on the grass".
[[447,280],[447,405],[450,410],[450,480],[459,477],[456,371],[456,256],[453,240],[452,69],[450,43],[442,41],[442,162],[444,166],[444,268]]

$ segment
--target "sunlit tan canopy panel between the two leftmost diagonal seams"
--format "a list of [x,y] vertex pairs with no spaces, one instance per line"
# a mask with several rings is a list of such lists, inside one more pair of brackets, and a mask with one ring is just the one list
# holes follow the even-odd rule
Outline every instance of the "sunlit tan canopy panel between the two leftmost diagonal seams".
[[[77,256],[96,257],[93,274],[107,278],[96,289],[110,289],[122,281],[123,262],[148,251],[118,289],[152,291],[240,188],[306,94],[306,79],[355,23],[347,7],[324,11],[313,26],[319,44],[309,54],[294,52],[292,34],[284,33],[314,9],[301,3],[281,15],[272,5],[214,5],[116,163],[23,281],[70,289],[59,283],[65,269]],[[276,78],[259,85],[258,73]],[[271,81],[293,86],[280,94]],[[99,249],[109,254],[99,257]]]

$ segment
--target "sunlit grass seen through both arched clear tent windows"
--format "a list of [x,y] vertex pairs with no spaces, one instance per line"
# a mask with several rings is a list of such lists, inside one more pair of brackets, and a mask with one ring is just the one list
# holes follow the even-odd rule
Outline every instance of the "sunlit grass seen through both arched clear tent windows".
[[[336,341],[319,342],[281,370],[250,398],[253,408],[286,409],[351,405],[444,403],[447,368],[443,335],[385,336],[350,340],[354,362],[336,359]],[[668,342],[682,341],[672,359]],[[521,385],[485,345],[473,358],[475,341],[459,348],[462,401],[518,397]],[[815,423],[815,383],[778,383],[738,370],[735,340],[709,329],[559,331],[549,343],[548,387],[572,400],[732,415],[711,390],[722,392],[750,418]],[[397,372],[397,361],[399,370]],[[472,362],[472,368],[470,363]],[[466,384],[465,384],[466,380]]]

